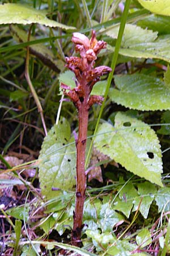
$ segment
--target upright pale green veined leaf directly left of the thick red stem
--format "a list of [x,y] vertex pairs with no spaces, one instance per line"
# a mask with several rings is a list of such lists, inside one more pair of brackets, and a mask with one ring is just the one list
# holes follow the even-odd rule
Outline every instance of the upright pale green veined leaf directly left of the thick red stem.
[[[68,145],[68,146],[67,146]],[[75,142],[69,122],[63,118],[54,125],[42,143],[39,156],[39,176],[42,195],[54,197],[58,191],[75,185]]]

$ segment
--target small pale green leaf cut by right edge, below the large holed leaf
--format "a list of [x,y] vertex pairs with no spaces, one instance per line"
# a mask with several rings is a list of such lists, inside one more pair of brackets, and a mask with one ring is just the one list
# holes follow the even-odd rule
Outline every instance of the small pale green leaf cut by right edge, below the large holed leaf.
[[170,210],[170,188],[160,188],[155,196],[156,205],[158,205],[158,212]]

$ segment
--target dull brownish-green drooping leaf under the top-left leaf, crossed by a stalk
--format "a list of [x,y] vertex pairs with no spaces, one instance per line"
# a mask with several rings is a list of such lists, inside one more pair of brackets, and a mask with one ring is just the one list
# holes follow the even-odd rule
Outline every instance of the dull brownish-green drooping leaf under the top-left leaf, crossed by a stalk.
[[[28,41],[28,34],[18,26],[10,26],[10,31],[12,33],[12,36],[16,40],[16,42],[27,42]],[[36,40],[35,37],[31,36],[30,40]],[[47,47],[44,46],[44,44],[33,44],[29,46],[29,51],[38,57],[42,63],[47,65],[48,67],[52,68],[54,71],[58,72],[59,70],[59,63],[58,60],[56,60],[56,56],[54,56],[53,52],[50,51]],[[63,63],[62,63],[63,65]]]

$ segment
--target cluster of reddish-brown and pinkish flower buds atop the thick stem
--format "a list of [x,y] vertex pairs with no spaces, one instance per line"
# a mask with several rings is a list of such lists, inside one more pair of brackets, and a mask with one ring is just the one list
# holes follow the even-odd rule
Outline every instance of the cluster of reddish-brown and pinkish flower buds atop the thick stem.
[[80,52],[80,57],[66,57],[66,67],[75,73],[76,87],[71,89],[65,84],[61,84],[63,93],[69,96],[71,101],[77,109],[79,109],[80,102],[83,101],[85,96],[84,90],[88,86],[88,109],[94,104],[101,104],[103,97],[90,96],[91,90],[94,84],[100,80],[100,76],[103,76],[112,71],[107,66],[100,66],[94,68],[97,54],[101,49],[106,48],[104,41],[97,41],[96,32],[92,30],[92,37],[89,40],[87,36],[80,34],[79,32],[73,33],[72,41],[75,44],[75,51]]

